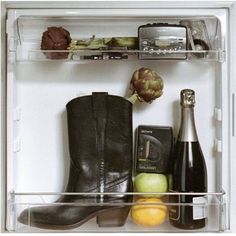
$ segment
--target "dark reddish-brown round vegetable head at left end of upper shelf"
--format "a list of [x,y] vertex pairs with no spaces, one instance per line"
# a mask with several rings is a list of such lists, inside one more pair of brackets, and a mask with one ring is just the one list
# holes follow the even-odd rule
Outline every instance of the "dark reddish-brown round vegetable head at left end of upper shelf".
[[[67,50],[71,42],[69,31],[63,27],[48,27],[43,32],[41,50]],[[68,52],[44,52],[48,59],[66,59]]]

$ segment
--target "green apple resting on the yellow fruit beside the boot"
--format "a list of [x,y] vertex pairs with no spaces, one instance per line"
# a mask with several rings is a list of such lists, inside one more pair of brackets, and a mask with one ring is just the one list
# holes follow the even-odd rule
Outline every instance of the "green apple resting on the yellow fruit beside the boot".
[[[167,192],[168,182],[163,174],[141,173],[134,179],[134,186],[137,192]],[[162,197],[162,194],[146,194],[143,197]]]

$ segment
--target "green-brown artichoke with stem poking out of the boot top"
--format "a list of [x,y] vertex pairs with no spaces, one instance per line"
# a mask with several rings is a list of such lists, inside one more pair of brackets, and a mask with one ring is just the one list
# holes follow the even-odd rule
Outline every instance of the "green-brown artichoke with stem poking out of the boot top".
[[139,101],[151,103],[163,93],[163,80],[153,70],[140,68],[133,73],[130,81],[130,89],[133,95],[128,99],[133,104]]

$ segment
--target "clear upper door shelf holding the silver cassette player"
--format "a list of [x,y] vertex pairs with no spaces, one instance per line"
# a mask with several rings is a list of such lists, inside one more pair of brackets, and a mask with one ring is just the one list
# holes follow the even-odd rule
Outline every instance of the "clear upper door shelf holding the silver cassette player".
[[[70,32],[73,41],[105,38],[132,37],[138,39],[138,29],[142,25],[168,23],[179,25],[182,21],[196,20],[205,22],[209,35],[209,50],[206,51],[139,51],[135,50],[40,50],[42,34],[48,27],[63,27]],[[63,61],[77,64],[110,61],[216,61],[224,62],[225,51],[222,43],[223,35],[219,19],[214,16],[20,16],[16,19],[16,35],[9,38],[10,61]],[[187,40],[190,42],[189,37]],[[189,44],[189,43],[188,43]],[[187,48],[192,48],[187,45]],[[76,48],[78,49],[78,48]],[[87,50],[88,49],[88,50]],[[110,48],[109,48],[110,49]],[[60,55],[60,56],[58,56]],[[64,55],[64,56],[63,56]],[[146,55],[147,59],[140,59]],[[178,59],[180,58],[181,59]],[[51,59],[50,59],[51,58]],[[55,59],[53,59],[55,58]],[[56,59],[58,58],[58,59]]]

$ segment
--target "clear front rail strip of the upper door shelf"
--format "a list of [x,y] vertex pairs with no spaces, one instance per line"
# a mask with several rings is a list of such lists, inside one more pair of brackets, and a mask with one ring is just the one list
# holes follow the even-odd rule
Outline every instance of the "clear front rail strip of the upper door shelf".
[[[67,61],[77,63],[91,63],[104,61],[218,61],[223,62],[225,51],[140,51],[140,50],[11,50],[12,57],[16,61]],[[147,59],[139,59],[139,55],[146,55]],[[185,57],[179,59],[179,56]],[[168,58],[166,58],[168,57]]]

